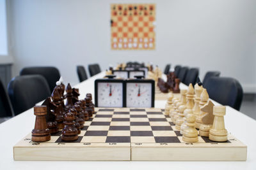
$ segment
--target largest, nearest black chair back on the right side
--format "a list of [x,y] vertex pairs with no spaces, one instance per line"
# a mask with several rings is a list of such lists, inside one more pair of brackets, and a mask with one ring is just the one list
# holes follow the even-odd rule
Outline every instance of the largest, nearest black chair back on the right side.
[[204,88],[207,90],[209,97],[214,101],[228,105],[236,110],[240,110],[243,100],[243,89],[234,78],[214,77],[209,78]]

